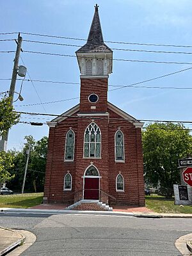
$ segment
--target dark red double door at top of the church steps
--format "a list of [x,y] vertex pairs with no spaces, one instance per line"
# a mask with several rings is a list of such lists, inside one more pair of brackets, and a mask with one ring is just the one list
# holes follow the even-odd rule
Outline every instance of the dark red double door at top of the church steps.
[[99,178],[84,178],[84,199],[99,200]]

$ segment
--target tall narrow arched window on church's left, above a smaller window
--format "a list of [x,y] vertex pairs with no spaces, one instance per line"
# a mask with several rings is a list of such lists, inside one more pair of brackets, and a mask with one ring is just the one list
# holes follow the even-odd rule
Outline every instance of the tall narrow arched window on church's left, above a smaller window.
[[74,161],[75,134],[71,129],[66,134],[65,140],[65,161]]

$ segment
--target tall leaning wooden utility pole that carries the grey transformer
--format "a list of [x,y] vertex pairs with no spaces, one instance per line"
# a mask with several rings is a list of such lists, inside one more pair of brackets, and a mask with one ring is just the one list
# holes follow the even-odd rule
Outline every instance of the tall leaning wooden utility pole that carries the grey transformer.
[[[22,49],[21,49],[22,37],[20,36],[20,33],[18,35],[17,40],[18,40],[18,42],[15,40],[15,42],[17,43],[17,50],[15,52],[15,59],[14,59],[13,73],[12,73],[12,81],[11,81],[11,84],[10,84],[10,91],[9,91],[9,97],[11,97],[11,103],[10,103],[11,105],[13,105],[15,84],[16,84],[16,80],[17,80],[17,70],[18,70],[18,67],[19,67],[19,56],[20,56],[20,51],[22,51]],[[3,151],[3,150],[6,151],[7,141],[8,141],[8,131],[0,139],[0,151]]]

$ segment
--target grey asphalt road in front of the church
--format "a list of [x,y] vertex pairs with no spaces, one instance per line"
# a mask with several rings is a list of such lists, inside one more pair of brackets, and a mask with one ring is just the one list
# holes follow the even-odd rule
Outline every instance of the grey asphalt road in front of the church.
[[178,256],[175,240],[192,232],[191,219],[81,214],[2,213],[0,226],[36,235],[23,256]]

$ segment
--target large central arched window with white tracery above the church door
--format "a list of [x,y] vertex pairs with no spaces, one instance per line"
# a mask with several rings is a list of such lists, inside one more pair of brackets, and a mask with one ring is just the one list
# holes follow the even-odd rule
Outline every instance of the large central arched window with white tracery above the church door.
[[95,123],[84,131],[84,157],[100,157],[100,129]]

